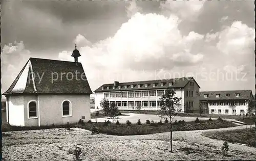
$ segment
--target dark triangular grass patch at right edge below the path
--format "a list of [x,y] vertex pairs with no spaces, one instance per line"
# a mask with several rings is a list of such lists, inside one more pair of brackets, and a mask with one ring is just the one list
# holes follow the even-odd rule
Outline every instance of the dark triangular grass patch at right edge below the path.
[[241,143],[256,148],[255,128],[238,129],[232,131],[204,132],[202,135],[211,139],[224,140],[230,143]]

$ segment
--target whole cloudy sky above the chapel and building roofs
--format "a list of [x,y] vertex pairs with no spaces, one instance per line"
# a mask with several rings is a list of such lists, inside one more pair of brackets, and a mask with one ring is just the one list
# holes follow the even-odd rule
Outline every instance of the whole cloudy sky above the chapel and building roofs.
[[2,93],[30,57],[74,61],[75,43],[92,91],[194,76],[255,93],[254,1],[1,2]]

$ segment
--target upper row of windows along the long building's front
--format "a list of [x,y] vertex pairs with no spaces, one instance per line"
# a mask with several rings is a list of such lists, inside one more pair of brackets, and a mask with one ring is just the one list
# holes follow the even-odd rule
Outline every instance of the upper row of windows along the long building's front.
[[120,97],[161,97],[164,94],[164,90],[159,91],[135,91],[135,92],[105,92],[105,98],[120,98]]

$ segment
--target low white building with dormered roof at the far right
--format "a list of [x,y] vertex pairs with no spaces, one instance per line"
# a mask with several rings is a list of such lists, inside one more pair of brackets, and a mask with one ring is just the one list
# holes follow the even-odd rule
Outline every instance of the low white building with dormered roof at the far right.
[[200,103],[209,114],[246,115],[251,90],[200,92]]

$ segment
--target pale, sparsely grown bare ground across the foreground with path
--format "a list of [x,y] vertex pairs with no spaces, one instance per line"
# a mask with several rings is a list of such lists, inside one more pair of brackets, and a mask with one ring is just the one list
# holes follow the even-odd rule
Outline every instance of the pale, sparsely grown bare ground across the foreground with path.
[[4,160],[73,160],[69,149],[77,145],[86,152],[83,160],[256,160],[256,148],[229,143],[229,156],[223,156],[223,141],[201,135],[213,130],[175,131],[173,151],[169,152],[169,132],[144,136],[92,135],[73,128],[13,131],[3,133]]

